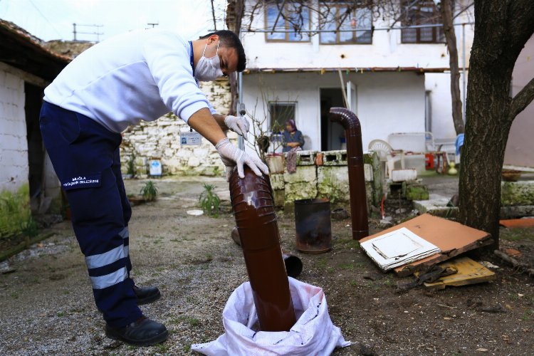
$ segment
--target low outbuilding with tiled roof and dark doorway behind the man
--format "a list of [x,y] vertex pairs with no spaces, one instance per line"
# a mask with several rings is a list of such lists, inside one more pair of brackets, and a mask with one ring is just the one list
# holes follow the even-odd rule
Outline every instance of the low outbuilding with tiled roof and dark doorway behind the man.
[[[70,58],[0,19],[0,194],[20,192],[43,211],[61,197],[39,130],[43,90]],[[28,197],[28,198],[29,198]]]

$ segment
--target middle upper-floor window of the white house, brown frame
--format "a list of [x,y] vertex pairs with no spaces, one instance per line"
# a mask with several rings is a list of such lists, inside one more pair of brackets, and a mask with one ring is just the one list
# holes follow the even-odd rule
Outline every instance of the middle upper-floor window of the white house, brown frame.
[[320,33],[321,44],[372,43],[371,9],[353,9],[349,3],[336,2],[321,5],[320,13],[320,28],[332,30]]

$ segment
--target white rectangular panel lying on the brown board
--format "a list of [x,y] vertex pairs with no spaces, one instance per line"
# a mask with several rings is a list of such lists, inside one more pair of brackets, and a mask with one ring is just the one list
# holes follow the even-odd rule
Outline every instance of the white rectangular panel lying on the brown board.
[[439,248],[402,227],[362,243],[365,253],[382,271],[389,271],[439,252]]

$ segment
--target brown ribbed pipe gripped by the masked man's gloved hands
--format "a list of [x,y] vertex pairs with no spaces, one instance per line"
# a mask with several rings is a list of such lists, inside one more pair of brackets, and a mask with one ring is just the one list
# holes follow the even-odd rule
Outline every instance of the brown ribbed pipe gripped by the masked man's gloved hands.
[[245,167],[230,177],[230,199],[254,305],[262,331],[289,331],[296,323],[268,176]]

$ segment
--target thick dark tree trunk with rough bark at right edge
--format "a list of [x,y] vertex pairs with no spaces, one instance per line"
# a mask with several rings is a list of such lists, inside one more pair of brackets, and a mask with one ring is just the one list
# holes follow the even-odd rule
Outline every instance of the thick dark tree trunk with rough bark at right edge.
[[[534,80],[512,100],[515,60],[534,32],[530,0],[475,0],[466,137],[461,155],[461,223],[487,231],[498,248],[501,170],[515,115],[534,97]],[[527,86],[529,86],[527,85]]]

